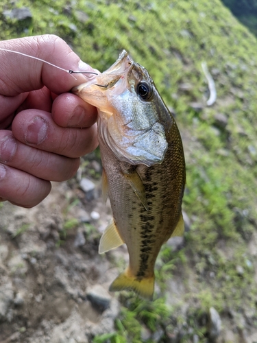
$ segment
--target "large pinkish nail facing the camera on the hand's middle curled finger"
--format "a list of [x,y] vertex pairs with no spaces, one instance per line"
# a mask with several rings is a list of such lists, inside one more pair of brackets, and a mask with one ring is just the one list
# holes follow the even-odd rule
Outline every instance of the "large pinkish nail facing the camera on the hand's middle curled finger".
[[41,117],[34,117],[27,127],[25,141],[29,144],[40,144],[47,137],[47,121]]

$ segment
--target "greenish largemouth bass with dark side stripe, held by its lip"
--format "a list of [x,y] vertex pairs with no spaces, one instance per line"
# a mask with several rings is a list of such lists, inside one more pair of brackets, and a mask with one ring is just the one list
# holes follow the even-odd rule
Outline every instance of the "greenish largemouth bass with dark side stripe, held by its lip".
[[98,111],[103,198],[109,196],[113,215],[99,253],[125,243],[130,256],[109,290],[152,300],[160,248],[184,234],[186,165],[178,126],[147,69],[125,50],[72,92]]

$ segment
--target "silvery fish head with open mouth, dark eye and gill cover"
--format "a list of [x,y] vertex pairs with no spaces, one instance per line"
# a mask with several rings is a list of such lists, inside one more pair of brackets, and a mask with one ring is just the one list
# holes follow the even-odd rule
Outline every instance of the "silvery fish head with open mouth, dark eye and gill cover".
[[98,108],[99,141],[120,161],[162,163],[173,118],[147,69],[125,50],[108,70],[72,91]]

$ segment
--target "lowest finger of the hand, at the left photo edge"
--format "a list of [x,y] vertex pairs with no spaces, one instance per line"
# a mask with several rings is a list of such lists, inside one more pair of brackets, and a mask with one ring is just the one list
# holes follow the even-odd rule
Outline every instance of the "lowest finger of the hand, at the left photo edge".
[[51,182],[0,164],[0,198],[30,208],[51,191]]

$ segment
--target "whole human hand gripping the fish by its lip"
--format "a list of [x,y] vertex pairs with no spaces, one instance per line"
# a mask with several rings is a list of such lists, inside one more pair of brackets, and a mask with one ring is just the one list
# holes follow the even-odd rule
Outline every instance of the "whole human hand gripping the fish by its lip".
[[[73,71],[95,71],[53,35],[3,40],[0,47]],[[68,180],[97,147],[97,110],[67,93],[91,74],[69,73],[0,51],[0,200],[32,207]]]

